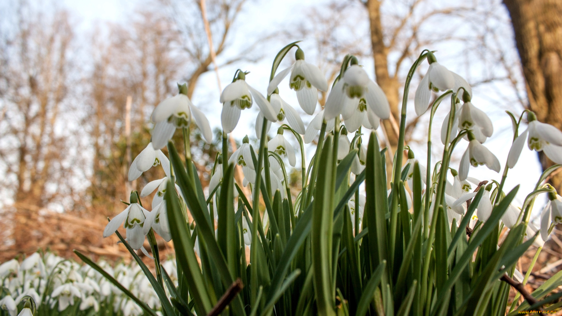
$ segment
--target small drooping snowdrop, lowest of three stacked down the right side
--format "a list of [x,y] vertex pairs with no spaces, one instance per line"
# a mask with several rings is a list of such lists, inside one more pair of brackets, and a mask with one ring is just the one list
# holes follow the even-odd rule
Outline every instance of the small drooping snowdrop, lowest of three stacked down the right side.
[[466,148],[463,158],[460,160],[459,178],[461,180],[466,179],[470,165],[474,167],[486,165],[488,169],[500,172],[501,165],[497,157],[492,154],[488,148],[478,142],[471,132],[468,133],[468,138],[470,140],[468,148]]

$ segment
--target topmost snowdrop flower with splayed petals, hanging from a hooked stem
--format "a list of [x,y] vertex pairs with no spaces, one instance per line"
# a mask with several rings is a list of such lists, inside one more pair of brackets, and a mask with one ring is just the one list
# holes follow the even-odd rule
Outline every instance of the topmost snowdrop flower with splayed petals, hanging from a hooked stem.
[[299,47],[294,53],[296,61],[293,65],[280,71],[271,80],[268,87],[268,95],[272,95],[279,83],[291,72],[289,87],[297,92],[298,104],[301,108],[312,115],[318,102],[318,90],[328,91],[328,82],[320,69],[305,61],[305,53]]

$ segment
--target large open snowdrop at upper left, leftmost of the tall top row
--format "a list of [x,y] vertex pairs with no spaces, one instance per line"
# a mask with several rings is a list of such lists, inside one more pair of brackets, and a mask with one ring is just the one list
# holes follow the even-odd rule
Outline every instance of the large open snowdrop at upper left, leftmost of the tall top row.
[[187,97],[187,84],[179,85],[179,93],[160,102],[152,111],[151,120],[156,123],[152,131],[152,144],[155,148],[166,146],[174,136],[176,128],[187,128],[192,117],[201,130],[207,143],[212,142],[211,126],[205,114],[193,106]]

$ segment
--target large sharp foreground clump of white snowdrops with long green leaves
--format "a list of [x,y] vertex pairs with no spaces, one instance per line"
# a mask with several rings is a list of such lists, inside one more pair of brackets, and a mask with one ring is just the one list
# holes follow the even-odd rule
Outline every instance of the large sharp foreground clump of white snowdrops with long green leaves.
[[[277,71],[292,48],[296,61]],[[426,61],[429,69],[414,98],[416,114],[429,110],[430,115],[428,156],[422,164],[405,147],[404,136],[410,82]],[[287,76],[302,110],[315,114],[306,129],[301,115],[279,95],[278,85]],[[164,314],[513,315],[562,304],[556,303],[562,294],[551,294],[562,285],[562,272],[531,294],[518,293],[508,304],[510,288],[527,282],[543,240],[554,224],[562,222],[562,198],[543,184],[560,165],[545,170],[523,205],[512,204],[518,187],[503,190],[525,142],[531,150],[562,162],[558,129],[538,122],[530,111],[520,116],[508,112],[513,138],[506,142],[513,146],[502,168],[483,145],[492,136],[493,125],[472,104],[469,84],[425,50],[406,78],[399,141],[388,155],[393,167],[387,173],[390,149],[379,147],[375,130],[380,119],[389,118],[388,101],[356,57],[345,57],[319,112],[318,91],[328,91],[328,83],[318,67],[305,60],[297,42],[275,57],[265,96],[248,84],[248,77],[237,70],[220,96],[223,152],[215,159],[208,191],[203,191],[192,162],[189,135],[196,125],[210,142],[209,121],[185,96],[187,87],[179,85],[179,94],[154,110],[151,143],[129,170],[129,180],[134,180],[161,165],[166,177],[148,183],[140,194],[133,191],[130,205],[103,232],[105,237],[115,232],[137,260]],[[432,93],[441,94],[430,103]],[[433,162],[431,129],[442,101],[450,101],[450,109],[441,126],[442,158]],[[259,146],[244,138],[241,147],[228,152],[228,133],[242,113],[252,113],[246,109],[253,105],[259,107]],[[528,128],[521,132],[525,113]],[[277,133],[269,138],[271,123],[276,122]],[[183,155],[170,141],[176,129],[183,132]],[[307,159],[304,144],[315,139],[315,154]],[[452,166],[451,156],[461,142],[468,142],[468,148],[460,165]],[[300,148],[295,150],[293,143]],[[161,151],[165,146],[168,156]],[[299,149],[301,191],[293,196],[287,163],[296,165]],[[239,184],[234,180],[235,165],[243,172]],[[487,179],[469,177],[470,169],[479,166],[490,169]],[[245,195],[242,187],[250,193]],[[157,193],[148,211],[139,197],[153,191]],[[550,202],[539,229],[529,218],[542,193]],[[117,232],[123,223],[126,238]],[[507,232],[502,234],[504,228]],[[160,263],[155,233],[174,241],[178,286]],[[155,275],[134,251],[148,255],[143,248],[146,237]],[[515,263],[533,243],[538,250],[522,276]],[[119,286],[119,280],[106,277]],[[127,295],[140,301],[134,293]],[[519,295],[524,296],[521,304]],[[153,314],[146,304],[140,306]]]

